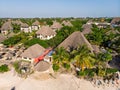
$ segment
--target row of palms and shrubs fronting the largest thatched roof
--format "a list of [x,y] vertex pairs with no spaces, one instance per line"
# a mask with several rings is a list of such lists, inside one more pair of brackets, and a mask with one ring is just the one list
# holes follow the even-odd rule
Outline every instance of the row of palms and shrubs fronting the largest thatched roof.
[[67,52],[64,48],[57,48],[53,54],[53,70],[59,71],[76,68],[76,74],[80,76],[105,76],[116,72],[110,69],[106,63],[112,60],[110,52],[93,54],[86,46],[80,46],[76,50]]

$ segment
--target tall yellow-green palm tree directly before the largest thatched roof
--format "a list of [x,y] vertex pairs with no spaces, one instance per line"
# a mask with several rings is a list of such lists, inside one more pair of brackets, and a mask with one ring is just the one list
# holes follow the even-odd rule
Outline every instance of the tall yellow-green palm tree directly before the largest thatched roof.
[[85,68],[91,68],[95,59],[91,56],[89,49],[86,46],[80,46],[75,53],[75,64],[78,68],[84,71]]

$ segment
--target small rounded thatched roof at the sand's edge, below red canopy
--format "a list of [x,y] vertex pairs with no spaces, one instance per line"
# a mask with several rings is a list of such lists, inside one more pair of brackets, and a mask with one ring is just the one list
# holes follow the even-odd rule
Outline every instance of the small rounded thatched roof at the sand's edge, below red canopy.
[[46,71],[48,70],[50,67],[50,64],[48,62],[45,61],[40,61],[36,66],[35,66],[35,70],[36,71]]

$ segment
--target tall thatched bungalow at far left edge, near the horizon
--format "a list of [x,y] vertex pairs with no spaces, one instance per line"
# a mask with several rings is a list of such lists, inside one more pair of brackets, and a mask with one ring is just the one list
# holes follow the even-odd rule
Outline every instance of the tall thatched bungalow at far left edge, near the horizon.
[[5,22],[1,27],[1,33],[6,35],[13,30],[11,21]]

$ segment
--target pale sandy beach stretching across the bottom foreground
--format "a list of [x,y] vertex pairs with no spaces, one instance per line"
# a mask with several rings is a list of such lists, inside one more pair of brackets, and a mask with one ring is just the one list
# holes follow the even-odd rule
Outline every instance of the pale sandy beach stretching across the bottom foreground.
[[94,87],[89,81],[73,75],[61,74],[57,78],[47,73],[34,73],[26,79],[18,77],[14,71],[0,74],[0,90],[120,90],[116,87]]

